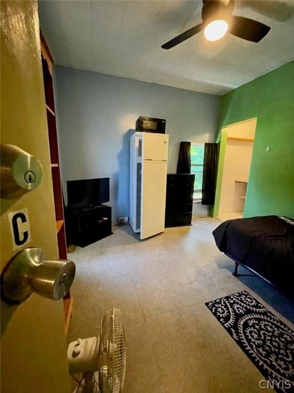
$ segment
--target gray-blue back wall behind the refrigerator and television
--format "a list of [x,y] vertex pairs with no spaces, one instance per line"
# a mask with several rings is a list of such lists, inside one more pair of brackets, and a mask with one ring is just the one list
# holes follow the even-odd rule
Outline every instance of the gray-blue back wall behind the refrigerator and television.
[[169,172],[180,141],[215,141],[217,96],[60,66],[54,78],[65,197],[66,180],[109,177],[112,222],[129,215],[129,137],[139,116],[166,119]]

